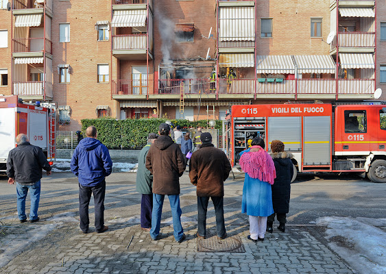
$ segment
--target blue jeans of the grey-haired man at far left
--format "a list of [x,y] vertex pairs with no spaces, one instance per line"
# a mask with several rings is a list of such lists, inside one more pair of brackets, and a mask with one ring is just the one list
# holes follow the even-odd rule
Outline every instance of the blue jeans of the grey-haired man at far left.
[[32,186],[23,186],[16,182],[16,194],[17,194],[17,214],[19,220],[27,219],[25,216],[25,199],[29,190],[29,197],[31,198],[31,210],[29,210],[29,219],[38,219],[38,208],[40,201],[40,180],[36,181]]

